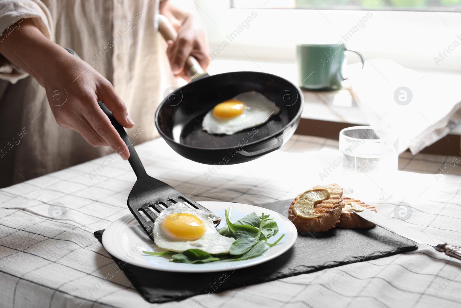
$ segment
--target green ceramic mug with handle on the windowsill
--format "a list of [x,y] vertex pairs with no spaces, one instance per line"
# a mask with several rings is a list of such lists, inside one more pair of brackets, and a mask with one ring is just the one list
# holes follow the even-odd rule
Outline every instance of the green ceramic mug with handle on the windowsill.
[[338,44],[297,44],[296,60],[298,66],[298,84],[308,90],[341,89],[343,77],[344,53],[353,52],[360,57],[362,67],[365,60],[361,53],[348,50]]

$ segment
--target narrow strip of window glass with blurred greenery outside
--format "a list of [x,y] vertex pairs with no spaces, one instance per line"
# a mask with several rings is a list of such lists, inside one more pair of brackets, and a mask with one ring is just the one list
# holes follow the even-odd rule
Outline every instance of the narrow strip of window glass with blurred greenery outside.
[[231,7],[461,12],[461,0],[232,0]]

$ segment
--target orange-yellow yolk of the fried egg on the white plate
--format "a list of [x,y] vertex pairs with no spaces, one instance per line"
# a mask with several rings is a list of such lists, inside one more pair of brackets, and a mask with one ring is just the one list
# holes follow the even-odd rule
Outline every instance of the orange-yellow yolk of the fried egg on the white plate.
[[189,213],[169,214],[162,220],[162,229],[171,238],[195,241],[205,233],[203,221]]

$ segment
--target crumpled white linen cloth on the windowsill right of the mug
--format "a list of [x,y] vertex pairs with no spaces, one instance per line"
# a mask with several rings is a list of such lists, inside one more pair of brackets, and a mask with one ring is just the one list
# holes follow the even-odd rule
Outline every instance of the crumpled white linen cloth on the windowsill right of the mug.
[[348,67],[352,94],[372,126],[391,128],[399,153],[417,154],[461,122],[461,76],[417,72],[392,60]]

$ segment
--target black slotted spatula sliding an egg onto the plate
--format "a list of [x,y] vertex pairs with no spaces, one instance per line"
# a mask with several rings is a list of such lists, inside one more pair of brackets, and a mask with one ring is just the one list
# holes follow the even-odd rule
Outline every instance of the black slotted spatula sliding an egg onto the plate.
[[[135,147],[131,144],[130,138],[125,132],[124,128],[115,120],[112,115],[112,112],[107,109],[106,105],[99,102],[99,106],[102,111],[109,117],[113,127],[117,130],[122,137],[125,144],[128,146],[130,151],[130,162],[131,168],[135,171],[137,180],[135,185],[131,189],[130,194],[128,195],[128,208],[131,213],[136,217],[136,220],[141,225],[142,229],[146,231],[146,234],[152,239],[152,223],[149,223],[148,220],[141,214],[144,213],[152,222],[158,216],[158,213],[163,211],[165,208],[171,204],[181,202],[185,205],[189,205],[194,209],[199,209],[211,213],[208,209],[201,206],[197,202],[188,197],[184,196],[182,193],[178,192],[176,189],[170,185],[154,179],[152,176],[149,176],[144,169],[144,166],[139,159],[138,154],[136,153]],[[220,222],[220,218],[216,215],[216,219],[213,220],[214,226],[216,227]]]

